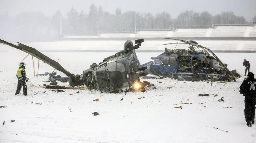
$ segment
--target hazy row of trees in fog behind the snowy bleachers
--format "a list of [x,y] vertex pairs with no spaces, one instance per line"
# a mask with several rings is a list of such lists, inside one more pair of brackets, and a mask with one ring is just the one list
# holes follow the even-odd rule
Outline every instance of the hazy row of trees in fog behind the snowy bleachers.
[[[23,12],[15,17],[0,14],[0,36],[23,42],[53,41],[58,34],[92,34],[101,32],[135,32],[138,29],[170,29],[173,27],[212,27],[213,24],[251,24],[243,16],[224,11],[212,15],[207,11],[197,13],[187,10],[177,18],[167,12],[157,14],[128,11],[115,13],[104,11],[102,6],[92,4],[89,13],[77,11],[73,7],[67,14],[57,11],[53,16],[40,12]],[[256,21],[256,16],[252,18]]]

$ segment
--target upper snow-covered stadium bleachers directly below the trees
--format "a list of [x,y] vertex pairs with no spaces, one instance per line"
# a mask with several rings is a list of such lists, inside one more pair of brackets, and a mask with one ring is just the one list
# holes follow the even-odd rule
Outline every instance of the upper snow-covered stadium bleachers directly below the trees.
[[[62,34],[64,39],[75,38],[210,38],[229,40],[229,38],[256,38],[256,26],[247,25],[215,25],[209,27],[174,27],[174,30],[137,30],[133,32],[101,32],[99,35]],[[217,38],[217,39],[216,39]],[[226,38],[226,39],[224,39]],[[250,39],[249,39],[250,40]]]

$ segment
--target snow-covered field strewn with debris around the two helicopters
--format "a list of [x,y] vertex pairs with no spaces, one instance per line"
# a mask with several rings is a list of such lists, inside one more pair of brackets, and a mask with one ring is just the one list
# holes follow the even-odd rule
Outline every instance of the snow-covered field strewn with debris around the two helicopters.
[[[41,45],[34,43],[33,46]],[[123,44],[120,47],[122,50]],[[32,58],[28,56],[24,60],[30,78],[28,96],[23,96],[22,91],[14,96],[16,71],[27,54],[6,46],[0,46],[0,51],[5,51],[0,52],[0,106],[6,106],[0,108],[0,142],[256,142],[256,125],[252,128],[246,126],[244,97],[238,91],[245,76],[237,82],[214,82],[212,86],[205,81],[184,83],[169,78],[147,79],[157,89],[125,96],[124,93],[109,94],[87,89],[57,93],[42,87],[47,76],[33,76]],[[75,74],[81,74],[91,63],[99,63],[113,54],[43,53],[54,60],[60,57],[59,63]],[[137,53],[141,63],[159,54]],[[238,69],[241,75],[244,73],[243,59],[251,63],[251,72],[256,71],[255,53],[216,54],[228,64],[228,68]],[[34,62],[37,72],[38,60],[34,58]],[[39,73],[52,70],[40,61]],[[29,86],[31,84],[34,86]],[[68,83],[60,84],[68,86]],[[210,96],[198,97],[198,94],[205,93]],[[218,96],[214,97],[216,94]],[[138,99],[140,97],[145,98]],[[224,102],[218,102],[221,97]],[[177,106],[182,106],[182,109],[174,108]],[[93,116],[94,111],[99,115]]]

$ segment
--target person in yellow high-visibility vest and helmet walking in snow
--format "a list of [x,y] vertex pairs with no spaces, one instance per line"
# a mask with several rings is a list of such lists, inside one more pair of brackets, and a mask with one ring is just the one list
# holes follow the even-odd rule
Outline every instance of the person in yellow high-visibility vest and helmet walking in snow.
[[21,88],[23,86],[23,95],[27,96],[27,90],[28,87],[26,85],[26,82],[28,81],[28,78],[26,77],[26,71],[25,71],[25,64],[24,62],[20,63],[20,67],[17,70],[16,77],[18,78],[18,86],[17,90],[15,92],[15,95],[19,94],[21,91]]

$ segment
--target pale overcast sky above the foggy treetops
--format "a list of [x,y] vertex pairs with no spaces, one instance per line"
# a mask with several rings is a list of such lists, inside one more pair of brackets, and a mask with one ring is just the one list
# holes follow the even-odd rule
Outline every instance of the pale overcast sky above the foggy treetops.
[[117,7],[122,12],[169,12],[173,18],[186,10],[195,12],[209,11],[220,14],[233,11],[237,16],[244,16],[248,21],[256,15],[256,0],[0,0],[0,14],[16,16],[24,11],[39,11],[46,16],[53,15],[58,9],[66,15],[73,6],[76,10],[88,13],[94,3],[102,6],[104,11],[115,13]]

